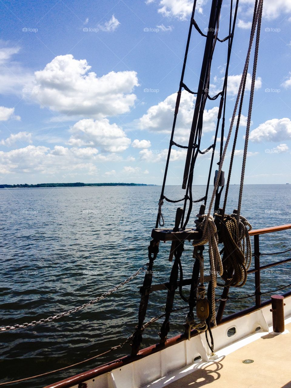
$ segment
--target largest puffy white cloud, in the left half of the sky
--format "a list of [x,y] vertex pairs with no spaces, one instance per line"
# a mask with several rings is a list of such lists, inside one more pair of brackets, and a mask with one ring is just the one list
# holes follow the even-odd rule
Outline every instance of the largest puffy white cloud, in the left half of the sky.
[[43,70],[35,72],[31,98],[41,107],[49,107],[68,116],[99,118],[126,113],[133,106],[138,86],[135,71],[111,71],[102,77],[88,72],[85,59],[59,55]]

